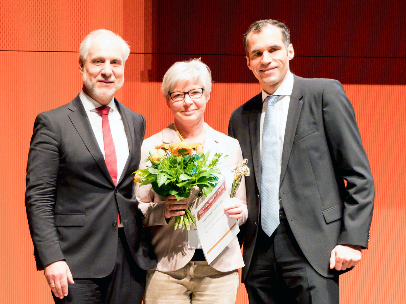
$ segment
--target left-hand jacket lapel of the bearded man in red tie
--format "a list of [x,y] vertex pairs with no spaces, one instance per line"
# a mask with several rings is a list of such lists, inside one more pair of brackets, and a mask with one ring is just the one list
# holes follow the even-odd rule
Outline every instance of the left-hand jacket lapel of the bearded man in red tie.
[[93,159],[103,171],[106,178],[114,185],[79,95],[69,104],[68,109],[71,111],[68,113],[69,119],[76,128],[76,131],[78,131],[86,148],[92,154]]

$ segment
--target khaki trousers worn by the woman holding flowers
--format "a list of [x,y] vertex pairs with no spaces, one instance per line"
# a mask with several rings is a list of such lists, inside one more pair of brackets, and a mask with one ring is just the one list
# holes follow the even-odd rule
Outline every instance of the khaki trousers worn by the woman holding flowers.
[[220,272],[206,261],[171,272],[147,270],[144,304],[235,304],[238,284],[238,270]]

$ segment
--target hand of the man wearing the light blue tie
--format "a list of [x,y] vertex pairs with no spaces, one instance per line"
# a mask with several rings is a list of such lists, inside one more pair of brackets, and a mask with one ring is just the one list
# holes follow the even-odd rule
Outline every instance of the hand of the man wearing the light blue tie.
[[331,250],[330,269],[346,270],[361,261],[361,246],[337,245]]

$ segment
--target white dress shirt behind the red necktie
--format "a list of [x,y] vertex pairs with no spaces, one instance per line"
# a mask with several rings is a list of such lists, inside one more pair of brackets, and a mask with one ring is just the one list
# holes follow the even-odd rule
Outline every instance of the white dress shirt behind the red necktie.
[[[83,90],[80,91],[79,97],[82,101],[87,117],[89,117],[90,125],[92,126],[100,151],[102,151],[104,156],[102,116],[96,110],[96,108],[102,107],[102,105],[83,92]],[[128,149],[128,141],[127,136],[125,135],[123,119],[116,108],[114,97],[107,106],[110,107],[110,111],[108,113],[108,122],[110,124],[111,135],[114,141],[114,148],[116,149],[118,182],[121,174],[123,173],[123,169],[125,163],[127,162],[130,151]]]

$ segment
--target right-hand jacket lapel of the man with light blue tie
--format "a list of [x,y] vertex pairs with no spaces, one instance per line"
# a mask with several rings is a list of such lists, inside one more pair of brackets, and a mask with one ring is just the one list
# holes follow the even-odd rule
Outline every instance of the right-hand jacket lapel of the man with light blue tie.
[[282,164],[281,164],[281,183],[285,176],[287,163],[289,161],[290,152],[292,151],[293,140],[296,134],[296,128],[299,122],[300,111],[302,110],[303,101],[302,98],[302,85],[299,78],[294,75],[294,84],[292,95],[290,96],[289,110],[287,113],[285,137],[283,140],[282,149]]

